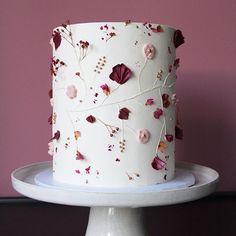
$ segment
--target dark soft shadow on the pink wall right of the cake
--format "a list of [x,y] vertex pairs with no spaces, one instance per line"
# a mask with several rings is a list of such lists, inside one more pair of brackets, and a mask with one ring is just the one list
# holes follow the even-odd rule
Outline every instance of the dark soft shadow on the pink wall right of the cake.
[[[233,84],[234,83],[234,84]],[[180,117],[184,139],[176,144],[178,160],[199,163],[220,174],[219,190],[235,191],[236,82],[226,75],[179,75]]]

